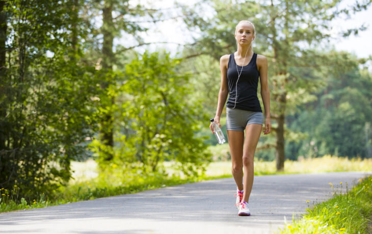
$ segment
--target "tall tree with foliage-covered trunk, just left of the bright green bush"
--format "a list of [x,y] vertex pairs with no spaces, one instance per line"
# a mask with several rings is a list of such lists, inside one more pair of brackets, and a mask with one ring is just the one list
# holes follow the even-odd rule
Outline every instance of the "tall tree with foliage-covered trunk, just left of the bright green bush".
[[[91,42],[87,51],[87,57],[96,62],[96,69],[99,70],[101,80],[101,95],[99,96],[98,109],[100,112],[99,141],[101,147],[100,159],[110,162],[114,158],[114,135],[117,129],[114,129],[114,115],[116,107],[116,84],[122,82],[119,79],[117,71],[125,63],[119,61],[119,57],[129,57],[124,53],[131,46],[127,43],[124,45],[115,45],[114,39],[118,37],[126,38],[126,41],[143,43],[143,36],[138,36],[139,32],[148,29],[149,23],[143,23],[149,18],[156,18],[161,15],[160,11],[149,9],[149,4],[141,5],[140,2],[123,0],[85,0],[83,10],[85,20],[90,22],[91,30],[89,38]],[[97,20],[97,15],[102,16],[102,21]],[[98,21],[98,23],[97,23]],[[148,21],[149,22],[149,21]],[[155,20],[154,20],[155,22]],[[146,24],[146,26],[145,26]],[[100,25],[99,29],[96,25]],[[129,48],[128,48],[129,47]],[[136,47],[136,46],[134,46]],[[133,47],[131,47],[133,48]]]

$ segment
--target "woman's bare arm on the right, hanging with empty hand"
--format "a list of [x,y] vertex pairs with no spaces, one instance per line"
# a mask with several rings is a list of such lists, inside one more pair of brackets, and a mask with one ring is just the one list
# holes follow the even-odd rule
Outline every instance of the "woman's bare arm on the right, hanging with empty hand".
[[260,77],[263,108],[265,109],[265,127],[263,133],[264,135],[266,135],[271,132],[271,120],[270,120],[270,91],[268,85],[268,59],[265,56],[263,55],[257,56],[257,68]]

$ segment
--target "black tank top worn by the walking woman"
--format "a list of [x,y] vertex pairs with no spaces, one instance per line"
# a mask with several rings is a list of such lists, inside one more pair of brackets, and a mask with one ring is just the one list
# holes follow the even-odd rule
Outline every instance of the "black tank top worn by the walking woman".
[[[230,55],[227,65],[227,80],[229,85],[229,98],[226,107],[245,111],[262,112],[261,105],[257,97],[257,86],[259,72],[256,64],[257,54],[253,53],[251,61],[243,67],[239,80],[236,70],[234,54]],[[237,65],[239,73],[242,67]],[[236,86],[237,81],[237,86]],[[237,90],[236,90],[237,87]],[[237,92],[236,92],[237,91]],[[236,96],[237,95],[237,96]],[[236,97],[236,104],[235,104]]]

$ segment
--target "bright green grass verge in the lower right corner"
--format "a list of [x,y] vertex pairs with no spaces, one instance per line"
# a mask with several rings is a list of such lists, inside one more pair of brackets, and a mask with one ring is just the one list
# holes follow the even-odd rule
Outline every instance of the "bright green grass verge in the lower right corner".
[[307,214],[286,224],[280,233],[371,233],[368,222],[372,217],[372,177],[359,182],[345,194],[341,193],[342,185],[338,185],[333,198],[313,204]]

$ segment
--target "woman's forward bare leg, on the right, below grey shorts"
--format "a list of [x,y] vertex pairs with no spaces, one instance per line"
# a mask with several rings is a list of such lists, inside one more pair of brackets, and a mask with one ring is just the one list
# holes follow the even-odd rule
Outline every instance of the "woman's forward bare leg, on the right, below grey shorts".
[[254,152],[256,151],[256,147],[257,147],[259,137],[261,135],[261,131],[262,131],[261,124],[249,124],[246,126],[246,137],[244,140],[244,150],[243,150],[244,195],[242,199],[242,201],[246,201],[246,202],[249,202],[249,196],[251,195],[251,191],[252,191],[253,176],[254,176],[254,169],[253,169]]

